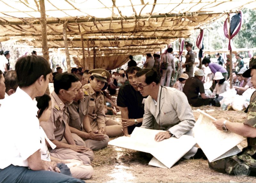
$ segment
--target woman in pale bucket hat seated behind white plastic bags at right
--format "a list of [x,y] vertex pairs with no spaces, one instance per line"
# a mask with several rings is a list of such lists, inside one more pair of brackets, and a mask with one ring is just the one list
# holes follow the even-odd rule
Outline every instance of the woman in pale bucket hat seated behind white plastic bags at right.
[[245,78],[242,76],[246,70],[247,69],[244,67],[237,73],[237,79],[240,81],[240,86],[234,86],[234,88],[236,88],[238,95],[242,95],[245,90],[252,87],[251,77]]

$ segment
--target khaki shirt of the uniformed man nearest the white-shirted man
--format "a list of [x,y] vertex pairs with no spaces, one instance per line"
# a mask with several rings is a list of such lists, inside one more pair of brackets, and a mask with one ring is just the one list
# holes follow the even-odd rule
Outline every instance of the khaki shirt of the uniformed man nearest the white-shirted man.
[[47,122],[40,123],[40,125],[50,140],[61,141],[64,136],[68,119],[67,106],[70,103],[64,104],[55,91],[52,92],[51,98],[51,117]]

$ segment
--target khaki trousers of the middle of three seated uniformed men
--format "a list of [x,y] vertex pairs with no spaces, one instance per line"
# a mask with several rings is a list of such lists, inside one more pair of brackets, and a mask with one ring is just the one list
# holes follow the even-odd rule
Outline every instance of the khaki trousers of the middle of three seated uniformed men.
[[[104,147],[106,147],[108,145],[108,141],[109,141],[109,137],[108,135],[104,135],[104,139],[97,141],[97,140],[91,140],[91,139],[82,139],[81,137],[79,137],[78,135],[71,133],[76,145],[80,145],[80,146],[86,146],[88,148],[90,148],[91,150],[99,150],[102,149]],[[67,141],[63,138],[62,143],[67,143]]]

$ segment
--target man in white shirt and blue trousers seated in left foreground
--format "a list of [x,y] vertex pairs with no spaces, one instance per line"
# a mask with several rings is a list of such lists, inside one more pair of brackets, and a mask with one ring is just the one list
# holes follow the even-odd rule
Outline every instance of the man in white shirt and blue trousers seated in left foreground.
[[41,56],[20,57],[15,65],[19,87],[0,107],[0,180],[2,182],[79,182],[60,174],[56,162],[41,159],[35,97],[48,86],[50,65]]

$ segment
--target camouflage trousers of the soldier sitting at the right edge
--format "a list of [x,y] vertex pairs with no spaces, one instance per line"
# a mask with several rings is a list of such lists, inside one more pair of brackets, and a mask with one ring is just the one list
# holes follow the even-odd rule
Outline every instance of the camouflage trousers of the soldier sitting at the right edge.
[[246,162],[238,158],[237,155],[225,157],[217,161],[208,162],[209,168],[218,172],[233,175],[256,176],[256,169],[247,165]]

